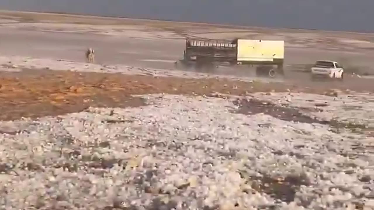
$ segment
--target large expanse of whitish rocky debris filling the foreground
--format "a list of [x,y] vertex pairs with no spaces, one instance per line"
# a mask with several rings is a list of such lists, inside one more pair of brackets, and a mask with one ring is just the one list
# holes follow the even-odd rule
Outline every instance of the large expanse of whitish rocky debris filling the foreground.
[[361,135],[266,112],[237,114],[234,99],[144,98],[142,107],[0,122],[20,131],[0,134],[1,208],[370,205],[374,154],[343,155],[352,151],[349,137],[359,144]]

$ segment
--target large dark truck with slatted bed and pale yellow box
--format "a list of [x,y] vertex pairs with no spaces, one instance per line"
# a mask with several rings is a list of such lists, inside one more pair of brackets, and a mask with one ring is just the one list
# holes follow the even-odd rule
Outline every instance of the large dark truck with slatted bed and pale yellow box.
[[[183,65],[195,65],[196,68],[218,65],[256,66],[257,75],[275,77],[283,75],[283,40],[202,40],[186,39]],[[191,64],[192,63],[192,64]]]

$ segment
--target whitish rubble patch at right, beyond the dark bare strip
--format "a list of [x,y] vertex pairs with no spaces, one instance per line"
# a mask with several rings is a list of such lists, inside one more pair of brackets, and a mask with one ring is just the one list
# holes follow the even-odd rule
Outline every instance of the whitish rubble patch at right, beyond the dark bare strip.
[[272,101],[276,106],[297,109],[302,115],[319,121],[329,121],[334,126],[356,130],[373,130],[374,96],[365,93],[343,94],[338,99],[308,93],[252,93],[248,98]]

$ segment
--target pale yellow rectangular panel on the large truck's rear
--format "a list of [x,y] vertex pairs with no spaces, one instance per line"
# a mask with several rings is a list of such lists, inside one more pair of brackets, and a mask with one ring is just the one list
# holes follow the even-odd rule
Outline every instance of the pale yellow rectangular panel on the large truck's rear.
[[237,40],[237,61],[273,61],[283,58],[283,40]]

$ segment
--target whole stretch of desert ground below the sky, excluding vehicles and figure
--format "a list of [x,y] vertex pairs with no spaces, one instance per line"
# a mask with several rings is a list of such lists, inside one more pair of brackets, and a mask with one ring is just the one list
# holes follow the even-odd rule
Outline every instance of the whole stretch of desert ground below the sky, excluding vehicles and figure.
[[[285,76],[179,69],[187,37],[285,40]],[[0,11],[0,207],[372,209],[373,50],[368,33]],[[311,81],[318,59],[349,74]]]

